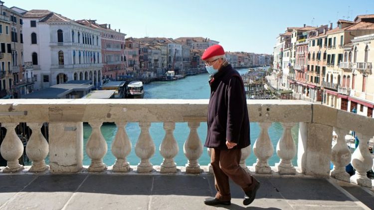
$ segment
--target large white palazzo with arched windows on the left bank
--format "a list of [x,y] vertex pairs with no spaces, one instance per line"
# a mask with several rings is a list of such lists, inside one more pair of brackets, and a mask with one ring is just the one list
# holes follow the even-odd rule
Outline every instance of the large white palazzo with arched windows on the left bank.
[[70,80],[99,84],[100,30],[49,10],[33,9],[23,17],[23,42],[24,61],[34,67],[36,90]]

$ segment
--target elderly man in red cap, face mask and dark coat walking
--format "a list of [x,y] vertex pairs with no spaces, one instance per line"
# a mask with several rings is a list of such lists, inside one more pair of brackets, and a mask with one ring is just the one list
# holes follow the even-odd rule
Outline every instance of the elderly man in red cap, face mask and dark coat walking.
[[204,203],[230,205],[230,178],[243,189],[243,204],[249,205],[255,199],[260,183],[239,166],[241,149],[250,145],[244,84],[240,74],[226,60],[222,46],[210,46],[201,59],[211,78],[204,146],[212,148],[210,164],[217,190],[215,197],[205,199]]

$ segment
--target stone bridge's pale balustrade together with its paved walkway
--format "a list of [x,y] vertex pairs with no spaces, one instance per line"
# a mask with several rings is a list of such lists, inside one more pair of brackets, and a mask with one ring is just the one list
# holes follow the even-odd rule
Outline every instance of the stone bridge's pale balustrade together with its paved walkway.
[[[252,156],[257,160],[246,162],[252,146],[241,150],[240,166],[255,173],[262,183],[251,206],[299,209],[318,204],[321,208],[359,209],[365,202],[359,202],[360,196],[371,198],[368,190],[357,184],[372,187],[366,171],[373,167],[368,149],[374,135],[373,118],[304,101],[248,100],[247,105],[250,120],[258,123],[261,133],[252,139]],[[0,205],[9,209],[206,209],[202,199],[214,196],[214,179],[209,166],[199,165],[201,155],[208,158],[209,152],[203,152],[197,128],[206,122],[207,106],[208,100],[2,100],[0,121],[7,132],[1,154],[7,167],[1,167]],[[18,164],[23,145],[14,128],[19,122],[26,122],[33,131],[26,145],[31,167]],[[41,122],[48,123],[48,142],[41,133]],[[92,127],[86,149],[83,122]],[[101,133],[103,122],[116,122],[118,131],[111,145]],[[128,122],[139,123],[138,139],[128,138]],[[162,122],[160,132],[165,132],[157,150],[149,132],[154,122]],[[177,142],[180,136],[175,136],[174,130],[181,122],[187,123],[189,130],[184,140]],[[273,122],[284,129],[278,146],[269,138]],[[291,128],[297,124],[299,139],[295,143]],[[338,134],[334,147],[333,130]],[[344,138],[349,130],[355,130],[360,138],[352,155]],[[136,142],[134,147],[130,140]],[[108,146],[108,155],[117,158],[110,166],[103,160]],[[161,165],[151,161],[155,152],[164,158]],[[174,163],[181,153],[186,166]],[[140,161],[128,163],[126,158],[131,155]],[[84,156],[90,166],[83,166]],[[279,164],[269,165],[272,156],[279,158]],[[47,157],[49,166],[45,164]],[[330,161],[334,164],[331,171]],[[351,161],[357,170],[352,177],[345,172]],[[347,186],[360,192],[353,194],[358,198],[344,190]],[[241,209],[242,192],[235,185],[231,190],[231,207]]]

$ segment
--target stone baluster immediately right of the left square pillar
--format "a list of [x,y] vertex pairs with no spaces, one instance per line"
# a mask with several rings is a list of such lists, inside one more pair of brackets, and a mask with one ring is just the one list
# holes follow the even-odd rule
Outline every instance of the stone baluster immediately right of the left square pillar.
[[107,142],[101,134],[100,127],[102,122],[88,122],[92,127],[92,133],[87,141],[86,152],[91,158],[91,165],[88,167],[90,172],[101,172],[106,170],[107,166],[103,163],[103,157],[108,151]]

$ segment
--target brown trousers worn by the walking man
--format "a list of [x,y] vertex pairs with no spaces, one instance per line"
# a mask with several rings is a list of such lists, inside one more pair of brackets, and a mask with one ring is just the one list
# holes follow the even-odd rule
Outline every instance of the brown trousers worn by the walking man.
[[215,198],[220,201],[230,201],[230,186],[228,178],[234,181],[244,192],[254,188],[253,177],[239,165],[241,149],[214,149],[211,151],[210,165],[214,172],[214,185],[217,190]]

